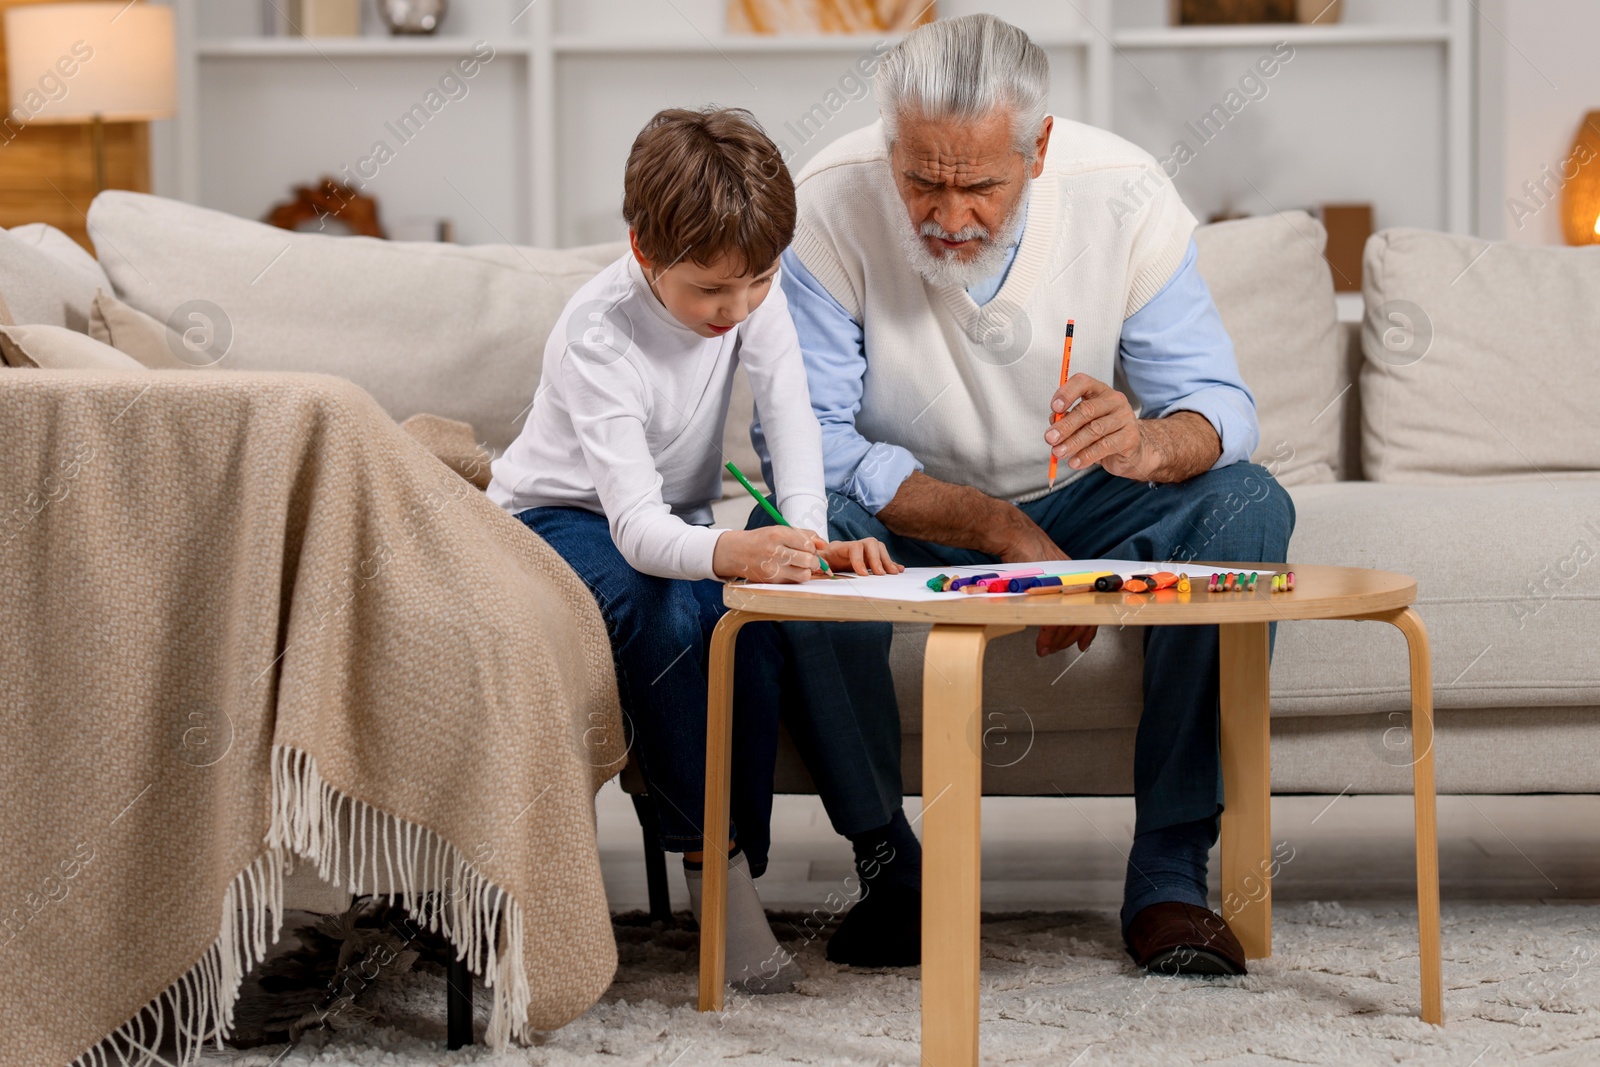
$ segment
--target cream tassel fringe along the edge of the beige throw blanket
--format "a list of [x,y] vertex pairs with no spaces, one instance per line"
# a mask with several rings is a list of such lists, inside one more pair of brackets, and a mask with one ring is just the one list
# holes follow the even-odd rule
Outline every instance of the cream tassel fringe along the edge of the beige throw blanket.
[[[456,947],[483,976],[493,1008],[486,1038],[504,1049],[526,1040],[528,977],[523,971],[523,912],[438,833],[341,793],[323,781],[317,760],[299,749],[272,749],[272,824],[267,851],[238,872],[222,897],[216,941],[187,974],[158,993],[72,1067],[189,1067],[200,1049],[234,1025],[245,974],[283,931],[283,875],[296,859],[317,865],[323,881],[362,896],[387,885],[419,925]],[[269,936],[270,931],[270,936]],[[171,1027],[176,1064],[162,1057]]]

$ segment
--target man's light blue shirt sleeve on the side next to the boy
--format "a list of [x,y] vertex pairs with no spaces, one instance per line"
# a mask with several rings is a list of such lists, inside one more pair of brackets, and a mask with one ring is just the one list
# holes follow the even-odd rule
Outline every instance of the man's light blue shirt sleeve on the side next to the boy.
[[[805,269],[794,250],[784,251],[779,282],[800,334],[811,410],[822,424],[822,480],[829,490],[843,493],[875,515],[894,499],[901,482],[922,470],[922,464],[899,445],[869,442],[856,430],[867,373],[861,323]],[[758,411],[750,437],[762,456],[766,485],[771,485],[771,461]]]

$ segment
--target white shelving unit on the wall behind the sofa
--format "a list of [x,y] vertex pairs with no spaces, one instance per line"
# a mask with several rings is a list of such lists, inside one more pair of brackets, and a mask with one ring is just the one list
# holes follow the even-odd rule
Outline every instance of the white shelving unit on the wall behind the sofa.
[[[174,128],[176,192],[240,213],[264,210],[266,205],[251,208],[229,198],[235,189],[261,181],[261,174],[291,163],[301,170],[293,174],[285,170],[285,176],[274,181],[309,181],[322,171],[336,173],[346,158],[336,149],[322,149],[331,158],[312,160],[318,150],[315,144],[331,142],[342,149],[347,141],[346,157],[365,147],[362,139],[373,136],[373,118],[352,120],[347,114],[357,101],[376,106],[366,85],[378,99],[392,96],[386,106],[400,112],[411,104],[402,86],[426,85],[437,74],[435,67],[443,69],[451,59],[469,54],[480,40],[494,48],[496,77],[493,83],[485,80],[475,86],[477,104],[458,107],[466,114],[451,115],[451,122],[462,125],[450,134],[456,139],[440,134],[427,149],[408,149],[414,157],[406,160],[411,170],[392,178],[386,174],[390,186],[376,189],[386,208],[389,202],[408,198],[429,202],[427,197],[437,194],[438,214],[459,216],[462,240],[469,242],[574,245],[614,237],[621,160],[643,118],[664,106],[707,101],[749,106],[774,139],[795,142],[786,146],[795,149],[794,166],[818,146],[875,117],[870,96],[853,93],[837,110],[822,109],[818,117],[818,107],[843,83],[854,61],[874,53],[880,45],[877,38],[730,35],[720,30],[723,0],[675,0],[670,5],[659,0],[538,0],[533,5],[526,0],[453,0],[445,27],[448,37],[390,38],[371,30],[366,37],[315,40],[253,35],[259,22],[256,0],[203,0],[203,14],[202,0],[171,3],[179,13],[182,96]],[[1290,109],[1283,107],[1272,123],[1262,120],[1253,134],[1258,141],[1270,141],[1270,149],[1256,147],[1272,162],[1266,168],[1270,173],[1256,171],[1256,178],[1261,186],[1277,181],[1277,189],[1286,190],[1274,200],[1368,198],[1379,203],[1381,226],[1469,232],[1475,160],[1472,0],[1347,0],[1346,8],[1349,21],[1336,26],[1170,27],[1158,24],[1165,11],[1158,0],[1115,5],[1112,0],[1072,5],[941,0],[946,14],[992,10],[1024,26],[1051,56],[1056,114],[1123,133],[1157,155],[1165,147],[1160,138],[1179,126],[1186,110],[1200,109],[1203,101],[1221,93],[1218,86],[1226,70],[1248,70],[1253,53],[1286,42],[1296,53],[1304,50],[1315,56],[1315,61],[1296,61],[1301,66],[1294,67],[1293,78],[1299,85],[1293,93],[1299,93],[1302,102],[1310,99],[1312,110],[1333,115],[1328,123],[1338,130],[1390,123],[1384,126],[1384,144],[1414,150],[1410,160],[1387,155],[1368,160],[1373,174],[1363,179],[1365,184],[1352,181],[1358,186],[1354,194],[1318,187],[1317,182],[1338,168],[1318,162],[1317,152],[1328,152],[1328,147],[1318,142],[1317,130],[1296,133],[1285,126]],[[1398,18],[1405,21],[1386,21]],[[376,22],[376,16],[368,13],[368,22]],[[1165,96],[1146,74],[1155,67],[1162,70]],[[333,98],[331,93],[344,91],[334,74],[352,86],[363,82],[363,94]],[[1384,98],[1382,114],[1341,112],[1341,107],[1349,110],[1341,104],[1341,83],[1358,85],[1362,78],[1394,85],[1387,96],[1374,90]],[[314,85],[318,80],[331,88],[318,91]],[[1290,80],[1285,74],[1278,83]],[[1283,96],[1293,93],[1285,90]],[[248,126],[285,128],[272,110],[278,96],[285,106],[306,112],[302,141],[309,147],[280,144],[282,133],[274,134],[278,142],[256,142],[250,136]],[[1371,102],[1366,107],[1371,110]],[[1258,110],[1264,112],[1266,104]],[[1298,106],[1296,114],[1301,110]],[[806,118],[816,122],[814,134]],[[330,134],[341,122],[354,123],[352,130]],[[1240,146],[1251,147],[1245,134],[1235,138],[1235,149]],[[1214,150],[1205,162],[1211,186],[1221,181],[1218,174],[1226,178],[1229,150]],[[1349,150],[1362,152],[1363,147],[1357,142]],[[307,160],[290,158],[296,152]],[[1243,165],[1242,157],[1238,168]],[[1259,166],[1259,160],[1254,165]],[[450,166],[456,168],[454,179],[446,173]],[[480,203],[467,200],[466,194],[453,198],[435,181],[435,171],[453,181],[458,194],[467,178],[482,181],[488,192]],[[1269,195],[1250,173],[1243,178],[1262,192],[1262,198]],[[1187,178],[1179,179],[1181,187],[1184,181]],[[1418,192],[1418,186],[1424,190]],[[1392,214],[1398,218],[1384,218],[1384,198],[1390,192],[1398,205]],[[245,192],[238,197],[243,200]],[[1259,203],[1259,210],[1267,210],[1266,203]]]

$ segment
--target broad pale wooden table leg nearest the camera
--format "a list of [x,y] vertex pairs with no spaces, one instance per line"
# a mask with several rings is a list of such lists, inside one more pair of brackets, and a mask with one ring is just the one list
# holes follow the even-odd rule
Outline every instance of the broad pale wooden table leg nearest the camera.
[[922,677],[922,1062],[978,1064],[984,646],[1021,627],[936,625]]

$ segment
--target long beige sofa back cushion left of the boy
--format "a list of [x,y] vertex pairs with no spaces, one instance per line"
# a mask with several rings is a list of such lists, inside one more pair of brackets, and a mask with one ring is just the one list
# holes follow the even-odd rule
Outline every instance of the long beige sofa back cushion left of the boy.
[[494,450],[522,429],[568,298],[624,248],[294,234],[131,192],[96,197],[90,234],[120,299],[226,331],[219,368],[339,374],[395,419],[470,422]]

